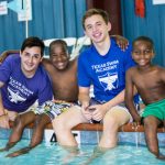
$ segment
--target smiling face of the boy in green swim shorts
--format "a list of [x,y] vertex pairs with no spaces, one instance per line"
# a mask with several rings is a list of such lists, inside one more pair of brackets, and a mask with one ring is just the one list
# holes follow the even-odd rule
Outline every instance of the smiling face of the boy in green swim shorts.
[[152,58],[154,57],[154,50],[147,41],[136,41],[133,43],[132,57],[139,66],[151,65]]

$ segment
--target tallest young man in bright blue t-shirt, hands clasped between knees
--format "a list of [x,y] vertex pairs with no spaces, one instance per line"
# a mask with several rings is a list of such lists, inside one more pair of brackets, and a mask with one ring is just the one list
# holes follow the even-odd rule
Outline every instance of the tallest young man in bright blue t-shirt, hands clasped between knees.
[[[72,129],[79,123],[101,121],[103,133],[99,148],[108,150],[117,145],[119,128],[131,120],[123,103],[125,72],[135,64],[131,57],[131,47],[122,52],[109,36],[111,23],[106,11],[88,10],[82,18],[82,26],[92,45],[78,58],[78,98],[81,107],[72,107],[54,119],[53,125],[58,143],[75,147],[77,142]],[[91,85],[95,100],[90,98]]]

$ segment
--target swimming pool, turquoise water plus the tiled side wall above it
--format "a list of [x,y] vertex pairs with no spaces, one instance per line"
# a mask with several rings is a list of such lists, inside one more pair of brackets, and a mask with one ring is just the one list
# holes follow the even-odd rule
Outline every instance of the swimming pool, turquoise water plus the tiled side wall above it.
[[[11,130],[0,129],[0,147],[3,147],[9,139]],[[108,151],[102,156],[87,163],[94,153],[101,132],[99,131],[75,131],[77,141],[80,143],[80,153],[70,158],[68,152],[51,143],[53,131],[46,130],[44,142],[32,150],[29,154],[10,158],[7,154],[22,148],[29,144],[32,135],[31,129],[25,129],[23,140],[11,151],[0,153],[0,165],[163,165],[165,162],[156,160],[145,147],[144,133],[120,132],[119,143],[116,148]],[[50,135],[48,135],[50,134]],[[165,133],[158,133],[158,141],[162,153],[165,154]]]

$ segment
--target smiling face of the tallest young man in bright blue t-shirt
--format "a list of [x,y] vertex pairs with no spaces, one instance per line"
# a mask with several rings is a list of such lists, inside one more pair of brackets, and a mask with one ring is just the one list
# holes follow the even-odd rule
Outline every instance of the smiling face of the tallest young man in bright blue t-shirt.
[[110,30],[110,22],[106,23],[99,14],[94,14],[85,20],[85,34],[91,38],[92,43],[103,42],[109,37]]

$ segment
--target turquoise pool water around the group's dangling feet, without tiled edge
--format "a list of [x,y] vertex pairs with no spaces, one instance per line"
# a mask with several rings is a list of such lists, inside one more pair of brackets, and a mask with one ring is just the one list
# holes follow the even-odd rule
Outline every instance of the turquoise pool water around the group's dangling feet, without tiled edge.
[[[0,140],[0,147],[3,147],[6,143],[7,140]],[[7,154],[28,144],[29,140],[22,140],[9,152],[0,153],[0,165],[165,165],[164,161],[155,158],[145,146],[132,144],[120,144],[103,155],[91,158],[95,145],[81,145],[79,154],[72,156],[56,143],[45,142],[28,154],[12,158],[6,157]],[[161,148],[161,152],[165,154],[165,148]]]

